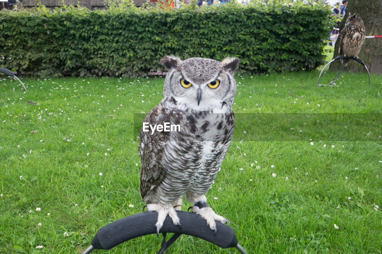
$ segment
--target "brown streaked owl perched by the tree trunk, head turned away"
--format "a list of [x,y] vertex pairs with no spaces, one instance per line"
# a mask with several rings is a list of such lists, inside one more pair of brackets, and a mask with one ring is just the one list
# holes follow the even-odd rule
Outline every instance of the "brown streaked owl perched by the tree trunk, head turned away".
[[[345,27],[341,32],[340,55],[358,58],[359,51],[365,40],[365,26],[358,13],[350,15],[346,20]],[[342,63],[346,61],[345,66],[351,61],[350,59],[343,59]]]

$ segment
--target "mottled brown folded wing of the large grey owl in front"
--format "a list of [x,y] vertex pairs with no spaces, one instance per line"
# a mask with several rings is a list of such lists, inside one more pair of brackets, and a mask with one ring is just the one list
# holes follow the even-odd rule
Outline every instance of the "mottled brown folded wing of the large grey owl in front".
[[[162,102],[155,106],[145,117],[144,122],[148,122],[152,126],[154,124],[163,124],[169,122],[168,114],[165,113]],[[139,133],[138,154],[141,156],[141,196],[142,199],[163,180],[165,169],[160,166],[163,148],[167,144],[169,132],[155,131],[151,134],[150,127],[148,132]]]

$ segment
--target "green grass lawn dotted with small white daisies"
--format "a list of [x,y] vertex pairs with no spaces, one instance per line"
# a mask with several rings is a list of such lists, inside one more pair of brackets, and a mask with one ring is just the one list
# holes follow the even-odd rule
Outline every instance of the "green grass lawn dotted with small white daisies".
[[[338,87],[317,87],[318,75],[236,76],[242,124],[207,202],[248,253],[381,253],[382,76],[369,85],[367,74],[343,72]],[[26,93],[0,80],[0,253],[82,253],[98,228],[142,211],[134,113],[161,100],[164,79],[23,82]],[[160,241],[93,252],[156,253]],[[187,235],[167,252],[238,253]]]

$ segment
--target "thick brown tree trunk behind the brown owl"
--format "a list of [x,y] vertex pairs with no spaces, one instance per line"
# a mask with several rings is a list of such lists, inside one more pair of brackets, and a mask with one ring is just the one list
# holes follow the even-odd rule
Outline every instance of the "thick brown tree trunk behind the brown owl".
[[[382,35],[382,1],[381,0],[348,0],[345,16],[341,21],[340,34],[345,27],[346,19],[349,13],[358,15],[362,18],[365,25],[367,35]],[[333,58],[338,56],[338,49],[340,47],[341,35],[338,35],[337,41],[334,46]],[[366,38],[359,52],[361,58],[369,69],[370,73],[382,74],[382,37],[380,38]],[[330,70],[338,71],[341,66],[341,61],[337,60],[330,64]],[[348,66],[344,68],[345,71],[364,72],[365,68],[357,63],[351,61]]]

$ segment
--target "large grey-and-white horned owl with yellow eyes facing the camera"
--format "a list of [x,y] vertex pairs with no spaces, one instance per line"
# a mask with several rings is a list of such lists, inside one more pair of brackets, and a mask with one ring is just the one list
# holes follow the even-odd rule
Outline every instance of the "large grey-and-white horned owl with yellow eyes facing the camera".
[[183,195],[193,204],[193,212],[205,218],[215,232],[214,220],[228,221],[207,206],[205,194],[231,142],[236,92],[233,72],[239,62],[239,58],[181,61],[175,56],[160,60],[168,69],[163,98],[144,122],[151,126],[167,122],[180,128],[147,132],[142,127],[138,148],[141,196],[147,211],[158,212],[158,233],[167,214],[180,225],[175,209],[181,210]]

